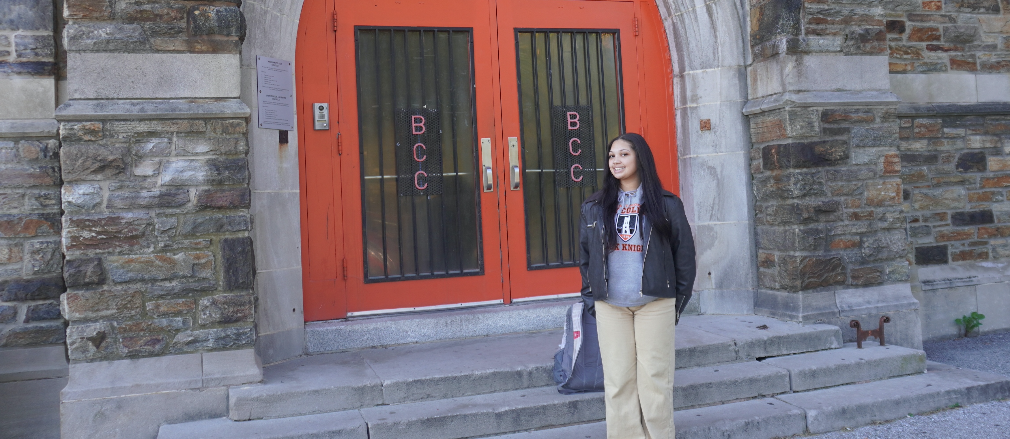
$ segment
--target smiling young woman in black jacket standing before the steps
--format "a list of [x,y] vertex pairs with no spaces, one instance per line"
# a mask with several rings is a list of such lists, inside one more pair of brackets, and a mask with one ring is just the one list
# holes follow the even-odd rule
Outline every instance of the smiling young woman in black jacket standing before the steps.
[[608,439],[674,439],[674,326],[695,249],[639,134],[610,141],[603,189],[582,205],[582,297],[596,316]]

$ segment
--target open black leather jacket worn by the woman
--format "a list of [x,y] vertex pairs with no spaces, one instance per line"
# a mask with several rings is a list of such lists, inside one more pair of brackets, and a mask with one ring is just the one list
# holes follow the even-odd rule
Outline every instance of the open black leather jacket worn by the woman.
[[[676,298],[677,320],[691,300],[696,273],[694,237],[691,226],[684,215],[684,203],[669,191],[663,191],[667,218],[673,228],[673,236],[667,241],[659,234],[652,236],[652,228],[642,235],[645,240],[644,261],[641,273],[641,294],[658,298]],[[614,213],[603,214],[603,208],[595,201],[582,204],[582,218],[579,220],[579,248],[582,263],[582,298],[588,307],[594,301],[607,298],[607,251],[603,248],[603,221],[613,221]],[[594,310],[595,311],[595,310]],[[595,313],[594,313],[595,314]]]

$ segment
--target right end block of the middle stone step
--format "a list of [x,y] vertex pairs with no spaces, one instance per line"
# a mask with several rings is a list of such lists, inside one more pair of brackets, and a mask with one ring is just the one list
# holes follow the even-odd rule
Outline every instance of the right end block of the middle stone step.
[[841,349],[786,355],[764,360],[765,364],[789,371],[793,392],[830,388],[921,373],[926,370],[926,353],[901,346],[845,343]]

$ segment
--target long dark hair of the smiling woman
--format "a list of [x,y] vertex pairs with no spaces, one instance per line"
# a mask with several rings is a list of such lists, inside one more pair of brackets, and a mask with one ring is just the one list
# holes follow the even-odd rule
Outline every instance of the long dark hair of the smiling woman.
[[[670,239],[673,230],[670,225],[670,218],[667,218],[667,209],[663,201],[663,183],[660,182],[660,175],[655,172],[655,159],[652,158],[652,150],[641,134],[628,132],[614,137],[607,144],[607,156],[610,154],[610,147],[617,140],[626,140],[631,143],[637,161],[638,177],[641,179],[641,206],[638,213],[648,219],[652,230]],[[618,190],[621,188],[621,181],[617,180],[610,173],[609,159],[607,160],[607,172],[603,176],[603,189],[591,195],[588,200],[599,203],[603,208],[603,243],[607,251],[617,248],[617,224],[612,216],[617,212]]]

